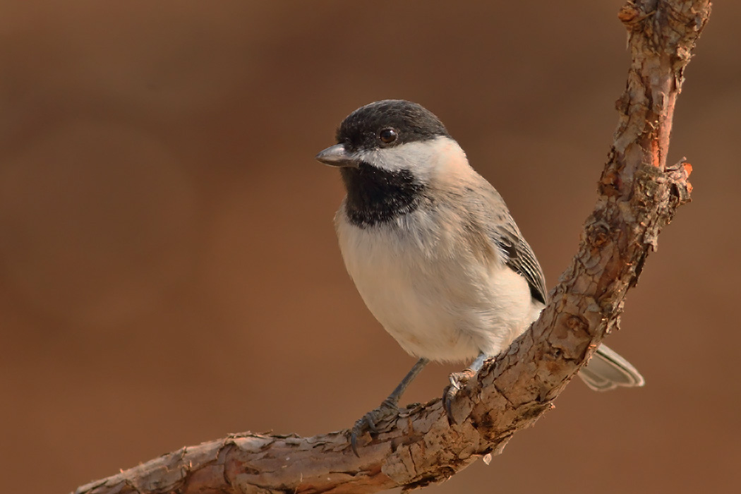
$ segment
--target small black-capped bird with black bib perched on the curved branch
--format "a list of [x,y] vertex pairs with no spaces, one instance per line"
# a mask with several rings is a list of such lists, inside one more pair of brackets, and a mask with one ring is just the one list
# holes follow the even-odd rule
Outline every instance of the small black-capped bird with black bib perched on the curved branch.
[[[337,144],[316,155],[339,167],[347,196],[335,216],[350,277],[373,316],[419,358],[352,445],[396,414],[429,361],[472,361],[453,387],[505,350],[545,307],[545,277],[505,201],[471,168],[442,122],[419,104],[355,110]],[[638,371],[601,345],[579,376],[594,390],[642,386]]]

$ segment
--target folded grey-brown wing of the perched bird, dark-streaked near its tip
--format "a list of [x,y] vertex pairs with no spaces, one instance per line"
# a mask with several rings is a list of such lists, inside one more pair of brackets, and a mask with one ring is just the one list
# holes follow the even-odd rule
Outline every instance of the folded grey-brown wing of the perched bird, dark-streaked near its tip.
[[465,187],[464,202],[468,213],[485,225],[491,241],[496,245],[505,264],[528,281],[530,293],[543,304],[548,299],[545,275],[528,242],[519,232],[502,196],[485,178],[476,174],[474,187]]

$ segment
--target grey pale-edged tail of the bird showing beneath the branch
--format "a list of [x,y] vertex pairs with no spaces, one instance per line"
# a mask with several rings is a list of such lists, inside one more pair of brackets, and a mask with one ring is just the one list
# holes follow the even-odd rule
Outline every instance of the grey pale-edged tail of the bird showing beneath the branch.
[[630,362],[607,345],[600,345],[589,363],[579,371],[579,377],[595,391],[616,387],[637,387],[645,384],[643,376]]

